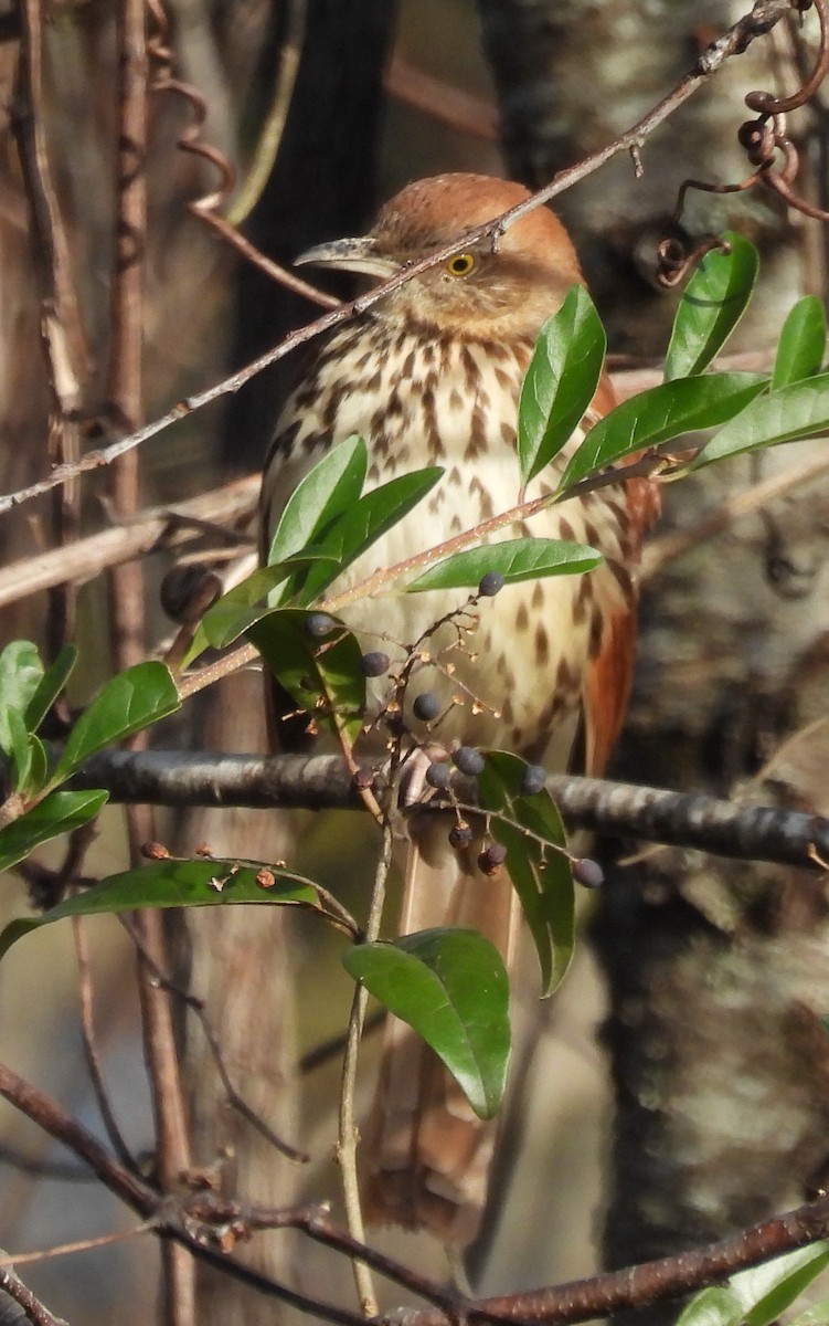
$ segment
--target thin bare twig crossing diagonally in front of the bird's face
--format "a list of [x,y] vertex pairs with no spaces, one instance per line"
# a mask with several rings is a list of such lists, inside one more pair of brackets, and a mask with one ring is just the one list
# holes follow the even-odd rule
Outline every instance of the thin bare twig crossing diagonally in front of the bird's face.
[[[727,58],[735,54],[742,54],[756,37],[771,32],[775,24],[779,23],[780,19],[788,13],[788,11],[789,0],[757,0],[752,12],[728,28],[727,32],[723,33],[723,36],[716,41],[711,42],[702,56],[699,56],[691,73],[687,74],[671,93],[663,97],[653,110],[644,115],[642,119],[637,121],[632,129],[613,139],[613,142],[607,147],[585,156],[576,166],[559,171],[550,184],[547,184],[538,194],[534,194],[526,203],[520,203],[509,212],[503,212],[501,216],[493,217],[491,221],[466,232],[465,240],[478,241],[490,236],[494,243],[497,243],[498,235],[503,233],[509,225],[519,220],[520,216],[526,215],[526,212],[535,207],[540,207],[558,194],[572,188],[573,184],[587,179],[588,175],[593,174],[601,166],[607,164],[607,162],[620,155],[620,152],[629,151],[632,146],[641,147],[646,138],[649,138],[650,134],[659,127],[659,125],[674,114],[674,111],[677,111],[679,106],[682,106],[689,97],[691,97],[702,86],[703,82],[719,72]],[[237,373],[222,378],[221,382],[215,383],[204,391],[187,396],[159,419],[155,419],[152,423],[146,424],[142,428],[136,428],[127,436],[119,439],[117,443],[113,443],[113,446],[91,451],[86,456],[81,457],[81,460],[74,465],[60,465],[48,477],[41,479],[38,483],[30,484],[26,488],[20,488],[13,493],[0,496],[0,514],[12,511],[15,507],[23,505],[45,492],[50,492],[53,488],[57,488],[60,484],[65,484],[69,479],[73,479],[79,473],[86,473],[89,471],[98,469],[102,465],[113,464],[118,456],[126,455],[135,447],[142,446],[150,438],[154,438],[156,434],[176,423],[176,420],[185,418],[196,410],[204,408],[204,406],[211,404],[222,396],[234,394],[245,386],[246,382],[254,378],[264,369],[269,367],[271,363],[275,363],[278,359],[283,359],[285,355],[310,341],[313,337],[320,335],[323,332],[328,332],[331,328],[339,326],[340,324],[366,313],[368,309],[373,308],[379,300],[383,300],[387,294],[400,289],[400,286],[405,285],[407,281],[411,281],[413,277],[420,276],[421,272],[437,267],[440,263],[452,257],[456,249],[457,241],[436,249],[428,257],[407,267],[404,272],[400,272],[388,281],[384,281],[381,285],[375,286],[367,294],[363,294],[347,304],[340,304],[336,309],[331,309],[314,322],[309,322],[306,326],[289,333],[289,335],[286,335],[277,346],[268,350],[257,359],[253,359]]]

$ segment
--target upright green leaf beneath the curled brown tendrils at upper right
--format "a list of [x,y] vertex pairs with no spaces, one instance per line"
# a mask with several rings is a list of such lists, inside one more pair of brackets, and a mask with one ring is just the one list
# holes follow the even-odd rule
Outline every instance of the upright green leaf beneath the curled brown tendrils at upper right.
[[731,252],[711,249],[689,281],[665,357],[665,381],[690,378],[711,362],[742,318],[757,278],[754,244],[726,231]]

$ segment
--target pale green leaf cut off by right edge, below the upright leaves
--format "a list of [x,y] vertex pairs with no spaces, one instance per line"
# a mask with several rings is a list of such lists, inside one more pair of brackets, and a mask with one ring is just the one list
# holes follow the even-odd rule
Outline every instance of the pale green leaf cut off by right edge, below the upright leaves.
[[796,442],[829,428],[829,373],[788,387],[771,391],[752,400],[736,419],[727,423],[699,452],[691,469],[702,469],[715,460],[740,456],[757,447],[776,447]]

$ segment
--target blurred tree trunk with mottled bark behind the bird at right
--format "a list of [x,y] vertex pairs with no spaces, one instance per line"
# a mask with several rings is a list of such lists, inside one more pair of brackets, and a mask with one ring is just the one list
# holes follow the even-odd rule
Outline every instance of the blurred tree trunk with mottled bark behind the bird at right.
[[[750,8],[478,0],[510,172],[542,183],[607,142]],[[674,301],[649,280],[662,219],[683,178],[748,172],[735,145],[748,118],[742,98],[780,80],[787,90],[796,85],[791,42],[780,25],[732,60],[644,145],[640,180],[620,159],[558,200],[581,236],[616,349],[663,353]],[[821,239],[801,243],[803,229],[768,196],[694,194],[686,220],[699,232],[734,225],[760,245],[761,284],[739,346],[771,346],[796,296],[821,292]],[[724,496],[796,467],[818,446],[671,485],[659,532],[693,530]],[[825,484],[795,489],[646,585],[636,695],[614,773],[726,794],[813,716],[804,676],[814,696],[829,675],[826,651],[814,644],[829,627],[828,500]],[[821,884],[776,867],[650,850],[612,871],[596,939],[610,987],[605,1042],[618,1107],[608,1264],[675,1252],[796,1201],[825,1155]]]

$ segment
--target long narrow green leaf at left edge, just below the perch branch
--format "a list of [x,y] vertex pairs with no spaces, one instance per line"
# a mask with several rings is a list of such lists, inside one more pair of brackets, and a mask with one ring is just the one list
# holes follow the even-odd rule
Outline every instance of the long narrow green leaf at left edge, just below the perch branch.
[[[66,796],[68,793],[56,793]],[[66,916],[95,916],[136,907],[212,907],[226,903],[303,903],[317,906],[315,890],[290,871],[268,867],[277,882],[257,884],[257,866],[232,861],[155,861],[110,875],[94,888],[66,898],[42,916],[13,920],[0,934],[0,957],[16,940]]]

